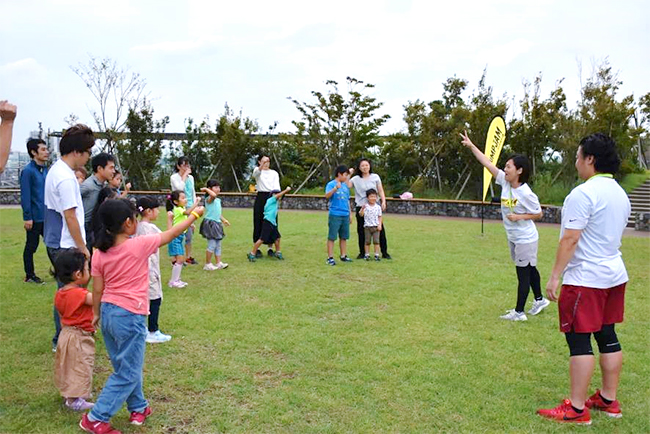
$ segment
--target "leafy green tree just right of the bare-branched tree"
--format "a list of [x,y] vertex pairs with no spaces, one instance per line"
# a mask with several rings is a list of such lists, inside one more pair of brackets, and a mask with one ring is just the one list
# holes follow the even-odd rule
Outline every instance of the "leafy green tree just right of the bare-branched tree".
[[169,117],[155,120],[153,114],[153,107],[146,101],[139,110],[129,109],[126,118],[128,138],[116,142],[122,169],[136,189],[151,190],[168,184],[161,184],[160,176],[156,178],[156,175],[160,172],[157,168],[160,167],[162,141]]

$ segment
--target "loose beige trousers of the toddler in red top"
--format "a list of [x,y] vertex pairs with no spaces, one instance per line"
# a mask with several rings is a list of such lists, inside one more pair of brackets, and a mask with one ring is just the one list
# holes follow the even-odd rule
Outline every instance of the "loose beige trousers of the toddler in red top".
[[64,398],[90,398],[95,365],[95,338],[77,327],[63,326],[56,345],[54,384]]

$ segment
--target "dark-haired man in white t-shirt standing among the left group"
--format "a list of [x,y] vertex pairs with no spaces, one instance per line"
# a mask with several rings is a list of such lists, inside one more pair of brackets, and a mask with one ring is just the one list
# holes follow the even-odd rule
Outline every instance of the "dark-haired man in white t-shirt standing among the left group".
[[[76,247],[86,258],[90,257],[86,247],[81,190],[74,171],[88,162],[94,144],[95,136],[87,126],[77,124],[68,128],[59,143],[61,158],[47,172],[43,240],[52,266],[58,254],[64,249]],[[57,283],[59,288],[63,286],[61,282]],[[52,339],[52,347],[56,350],[61,331],[56,308],[54,308],[54,325],[56,332]]]

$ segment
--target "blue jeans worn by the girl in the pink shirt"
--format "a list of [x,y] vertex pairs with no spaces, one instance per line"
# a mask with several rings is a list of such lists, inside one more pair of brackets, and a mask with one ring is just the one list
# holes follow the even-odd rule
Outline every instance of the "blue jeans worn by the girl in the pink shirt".
[[142,391],[147,317],[110,303],[102,303],[101,314],[104,343],[115,372],[89,415],[92,420],[108,422],[125,401],[129,412],[142,412],[149,405]]

